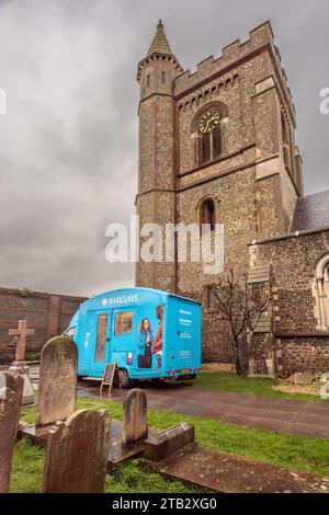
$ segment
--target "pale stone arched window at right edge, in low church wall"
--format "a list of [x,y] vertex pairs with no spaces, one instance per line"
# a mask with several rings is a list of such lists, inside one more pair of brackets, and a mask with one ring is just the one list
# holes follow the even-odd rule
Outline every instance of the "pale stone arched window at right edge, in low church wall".
[[316,266],[314,294],[317,328],[329,331],[329,254],[321,258]]

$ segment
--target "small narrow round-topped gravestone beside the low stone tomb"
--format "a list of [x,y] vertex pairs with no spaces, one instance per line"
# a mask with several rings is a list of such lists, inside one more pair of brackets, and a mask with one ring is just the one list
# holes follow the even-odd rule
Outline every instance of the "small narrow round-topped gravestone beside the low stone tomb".
[[134,388],[123,403],[122,445],[126,447],[147,437],[147,398]]

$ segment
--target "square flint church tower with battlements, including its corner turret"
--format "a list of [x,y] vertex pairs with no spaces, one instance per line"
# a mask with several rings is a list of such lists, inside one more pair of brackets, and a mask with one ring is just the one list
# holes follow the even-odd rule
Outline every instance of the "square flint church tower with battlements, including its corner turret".
[[[167,224],[209,224],[215,239],[222,224],[224,272],[247,271],[257,261],[249,243],[290,231],[303,195],[295,108],[270,22],[191,72],[160,21],[138,82],[140,227],[157,224],[164,239]],[[138,286],[200,300],[204,358],[231,363],[229,331],[214,304],[219,279],[191,258],[191,243],[186,262],[140,260],[136,270]]]

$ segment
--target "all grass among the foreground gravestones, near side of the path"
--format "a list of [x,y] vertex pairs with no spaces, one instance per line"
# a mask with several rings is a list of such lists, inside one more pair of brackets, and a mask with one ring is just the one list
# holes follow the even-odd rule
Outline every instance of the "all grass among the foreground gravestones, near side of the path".
[[[107,410],[113,419],[122,420],[122,404],[114,401],[78,398],[77,409]],[[33,408],[23,409],[22,420],[32,423],[34,416]],[[201,416],[148,410],[148,424],[158,430],[182,421],[190,422],[195,426],[196,440],[203,447],[329,477],[329,439],[253,430]],[[39,491],[43,456],[43,451],[31,447],[25,442],[19,442],[14,454],[12,491]],[[169,483],[158,474],[140,470],[138,461],[122,467],[115,477],[109,476],[106,490],[116,493],[190,491],[180,482]]]

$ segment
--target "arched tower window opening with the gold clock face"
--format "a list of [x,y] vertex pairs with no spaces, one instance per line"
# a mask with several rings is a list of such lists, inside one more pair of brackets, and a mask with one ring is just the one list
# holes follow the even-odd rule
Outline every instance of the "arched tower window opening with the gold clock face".
[[195,115],[192,124],[195,165],[211,163],[223,154],[223,118],[226,116],[227,108],[222,102],[211,102]]

